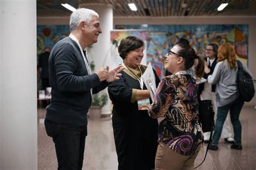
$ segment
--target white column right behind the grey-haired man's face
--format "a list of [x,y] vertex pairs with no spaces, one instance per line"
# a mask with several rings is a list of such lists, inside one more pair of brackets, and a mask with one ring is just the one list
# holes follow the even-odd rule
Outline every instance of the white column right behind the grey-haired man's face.
[[[99,35],[98,42],[93,44],[88,53],[89,58],[92,58],[95,63],[95,69],[97,70],[102,66],[110,66],[110,69],[114,67],[110,56],[110,49],[113,47],[110,40],[110,31],[113,29],[113,9],[111,5],[106,4],[81,4],[79,8],[87,8],[95,10],[99,14],[99,22],[103,33]],[[107,93],[107,90],[103,91]],[[111,113],[111,101],[102,108],[102,114]]]

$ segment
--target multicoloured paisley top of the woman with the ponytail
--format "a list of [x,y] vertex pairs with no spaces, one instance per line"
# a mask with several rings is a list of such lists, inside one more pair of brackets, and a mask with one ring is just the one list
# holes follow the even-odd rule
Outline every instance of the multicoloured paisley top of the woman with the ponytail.
[[165,117],[158,127],[158,141],[182,155],[199,152],[204,137],[198,120],[196,81],[190,74],[173,74],[161,80],[149,114],[154,119]]

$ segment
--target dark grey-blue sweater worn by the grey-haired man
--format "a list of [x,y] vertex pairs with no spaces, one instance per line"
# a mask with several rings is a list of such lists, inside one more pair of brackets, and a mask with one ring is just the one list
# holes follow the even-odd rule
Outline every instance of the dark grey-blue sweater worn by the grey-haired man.
[[70,37],[60,40],[49,58],[51,103],[46,107],[46,119],[55,123],[87,125],[87,112],[93,93],[109,83],[99,81],[96,73],[88,74],[78,44]]

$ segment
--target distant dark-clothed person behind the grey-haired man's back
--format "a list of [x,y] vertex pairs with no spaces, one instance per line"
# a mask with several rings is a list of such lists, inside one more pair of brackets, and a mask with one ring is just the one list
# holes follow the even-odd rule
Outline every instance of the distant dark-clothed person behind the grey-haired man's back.
[[46,90],[46,87],[50,87],[49,81],[49,56],[50,46],[45,46],[44,52],[38,56],[38,66],[40,69],[40,78],[42,80],[42,90]]

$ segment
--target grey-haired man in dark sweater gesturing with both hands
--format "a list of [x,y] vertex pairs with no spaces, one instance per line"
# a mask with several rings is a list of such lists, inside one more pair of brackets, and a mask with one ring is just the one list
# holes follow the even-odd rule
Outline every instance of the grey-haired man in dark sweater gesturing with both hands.
[[55,44],[50,54],[52,98],[44,124],[55,143],[58,169],[82,169],[92,93],[119,79],[117,72],[124,69],[106,66],[91,73],[85,47],[97,43],[100,33],[98,13],[80,8],[70,16],[70,36]]

